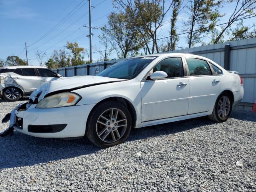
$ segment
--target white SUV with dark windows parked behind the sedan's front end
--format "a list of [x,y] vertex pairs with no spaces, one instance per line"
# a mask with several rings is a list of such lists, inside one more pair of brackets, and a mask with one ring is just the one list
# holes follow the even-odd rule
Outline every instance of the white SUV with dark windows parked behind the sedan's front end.
[[29,96],[35,89],[60,74],[40,66],[0,67],[0,97],[7,101],[16,101],[22,96]]

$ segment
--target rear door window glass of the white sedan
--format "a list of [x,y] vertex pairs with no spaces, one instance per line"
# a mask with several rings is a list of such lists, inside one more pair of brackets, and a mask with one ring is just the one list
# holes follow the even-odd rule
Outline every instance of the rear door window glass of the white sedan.
[[186,58],[190,76],[211,75],[211,69],[205,60],[197,58]]

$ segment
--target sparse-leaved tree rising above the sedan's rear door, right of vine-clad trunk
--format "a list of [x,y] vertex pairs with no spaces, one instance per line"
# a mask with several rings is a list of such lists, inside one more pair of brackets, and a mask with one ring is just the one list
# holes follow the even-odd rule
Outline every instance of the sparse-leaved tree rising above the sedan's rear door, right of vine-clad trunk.
[[189,31],[187,35],[188,48],[199,43],[202,34],[214,28],[216,20],[222,15],[218,11],[218,7],[222,1],[214,0],[189,0],[187,13],[189,18],[184,22],[184,31]]

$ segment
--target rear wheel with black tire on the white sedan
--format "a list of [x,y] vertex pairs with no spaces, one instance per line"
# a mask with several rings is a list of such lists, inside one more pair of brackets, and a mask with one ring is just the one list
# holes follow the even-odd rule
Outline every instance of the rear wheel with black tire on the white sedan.
[[228,93],[222,93],[218,96],[212,114],[208,117],[216,122],[224,122],[228,120],[232,112],[232,99]]

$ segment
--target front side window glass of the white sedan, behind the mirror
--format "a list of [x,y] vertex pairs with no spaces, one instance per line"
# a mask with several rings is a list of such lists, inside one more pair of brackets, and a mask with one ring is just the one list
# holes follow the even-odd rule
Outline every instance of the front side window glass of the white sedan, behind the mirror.
[[156,66],[154,66],[152,70],[149,72],[148,75],[151,75],[153,72],[156,71],[164,71],[168,75],[167,78],[184,76],[182,60],[180,57],[164,59],[160,61],[158,64],[156,64]]

